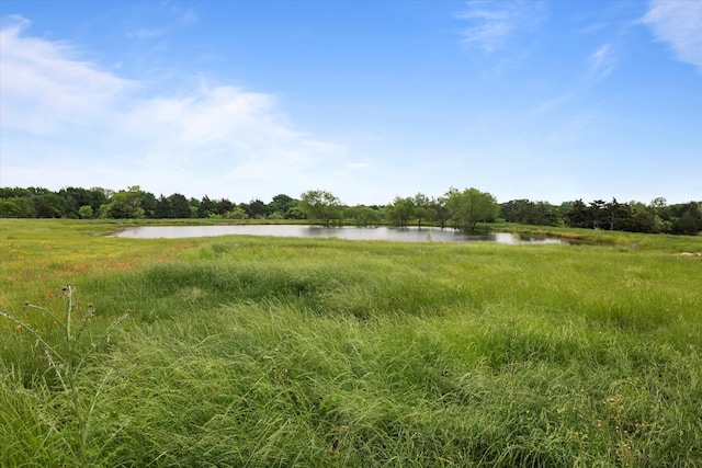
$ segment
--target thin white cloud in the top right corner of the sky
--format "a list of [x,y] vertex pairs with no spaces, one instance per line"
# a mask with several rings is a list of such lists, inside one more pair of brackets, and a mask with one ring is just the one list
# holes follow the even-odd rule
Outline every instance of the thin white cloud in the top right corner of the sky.
[[670,45],[678,60],[694,65],[702,73],[702,2],[653,0],[642,22],[658,41]]

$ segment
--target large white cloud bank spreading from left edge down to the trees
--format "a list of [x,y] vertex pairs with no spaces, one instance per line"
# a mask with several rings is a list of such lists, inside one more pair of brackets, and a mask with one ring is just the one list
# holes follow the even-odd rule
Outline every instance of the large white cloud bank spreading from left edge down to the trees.
[[343,167],[346,149],[296,129],[271,94],[202,82],[154,95],[27,26],[0,31],[2,184],[297,195],[296,180]]

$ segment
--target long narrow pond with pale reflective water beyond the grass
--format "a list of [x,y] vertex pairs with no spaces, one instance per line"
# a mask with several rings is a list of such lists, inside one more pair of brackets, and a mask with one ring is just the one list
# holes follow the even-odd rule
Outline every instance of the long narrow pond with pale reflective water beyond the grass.
[[494,243],[568,243],[556,238],[536,238],[509,232],[463,232],[455,229],[390,227],[322,227],[307,225],[227,225],[227,226],[139,226],[120,231],[115,237],[131,239],[180,239],[216,236],[273,236],[296,238],[337,238],[346,240],[390,240],[405,242],[494,242]]

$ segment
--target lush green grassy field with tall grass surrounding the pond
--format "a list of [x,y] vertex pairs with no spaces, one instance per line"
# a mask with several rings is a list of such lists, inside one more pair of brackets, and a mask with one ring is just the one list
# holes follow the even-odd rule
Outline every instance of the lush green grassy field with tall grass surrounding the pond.
[[2,467],[702,466],[701,237],[120,226],[0,220]]

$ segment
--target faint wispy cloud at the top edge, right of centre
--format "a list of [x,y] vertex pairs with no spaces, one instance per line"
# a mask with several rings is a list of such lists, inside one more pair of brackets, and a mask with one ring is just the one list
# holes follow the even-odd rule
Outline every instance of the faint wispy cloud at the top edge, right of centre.
[[463,31],[463,43],[491,54],[516,34],[531,31],[544,16],[540,1],[474,0],[457,14],[468,26]]

